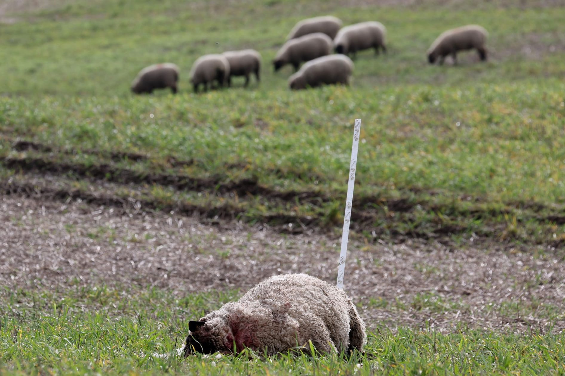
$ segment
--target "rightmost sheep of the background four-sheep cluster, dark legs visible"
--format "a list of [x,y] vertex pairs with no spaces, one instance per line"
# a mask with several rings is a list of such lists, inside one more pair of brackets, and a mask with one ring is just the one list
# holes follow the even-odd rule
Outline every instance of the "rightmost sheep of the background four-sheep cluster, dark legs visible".
[[379,54],[379,49],[386,52],[385,36],[386,28],[380,22],[361,22],[342,28],[333,40],[333,46],[338,54],[355,56],[357,51],[370,48]]

